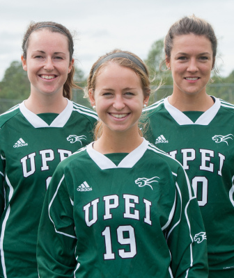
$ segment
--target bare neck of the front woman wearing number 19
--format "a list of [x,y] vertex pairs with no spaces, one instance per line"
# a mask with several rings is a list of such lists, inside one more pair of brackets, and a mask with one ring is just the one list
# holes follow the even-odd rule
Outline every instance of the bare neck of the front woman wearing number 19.
[[137,132],[119,132],[111,133],[104,131],[102,136],[95,141],[93,148],[101,154],[112,153],[130,153],[139,145],[141,145],[143,138]]

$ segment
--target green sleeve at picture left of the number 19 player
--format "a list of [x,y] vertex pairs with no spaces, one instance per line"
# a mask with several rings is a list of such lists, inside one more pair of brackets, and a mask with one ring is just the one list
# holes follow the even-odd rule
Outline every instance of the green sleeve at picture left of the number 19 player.
[[40,278],[73,278],[76,242],[72,200],[63,170],[57,167],[45,196],[38,229]]

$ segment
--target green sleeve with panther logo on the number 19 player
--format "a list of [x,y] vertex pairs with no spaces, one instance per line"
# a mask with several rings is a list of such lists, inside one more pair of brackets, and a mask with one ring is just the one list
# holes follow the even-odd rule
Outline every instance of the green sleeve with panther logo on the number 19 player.
[[201,211],[182,167],[174,175],[176,202],[167,234],[173,277],[207,278],[207,240]]

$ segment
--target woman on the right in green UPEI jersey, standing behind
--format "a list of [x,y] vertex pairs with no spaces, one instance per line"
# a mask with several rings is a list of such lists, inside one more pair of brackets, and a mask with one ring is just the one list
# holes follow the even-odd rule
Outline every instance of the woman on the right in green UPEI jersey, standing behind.
[[173,92],[144,111],[146,138],[189,176],[207,232],[209,277],[234,277],[234,106],[206,92],[217,38],[205,20],[183,17],[164,49]]

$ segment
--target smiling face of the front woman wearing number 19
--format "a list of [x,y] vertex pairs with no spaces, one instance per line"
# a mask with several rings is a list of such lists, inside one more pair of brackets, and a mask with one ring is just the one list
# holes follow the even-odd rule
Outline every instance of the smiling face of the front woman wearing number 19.
[[103,133],[133,131],[138,133],[138,120],[143,104],[140,77],[130,68],[108,63],[96,78],[95,90],[89,90],[91,103],[103,122]]

